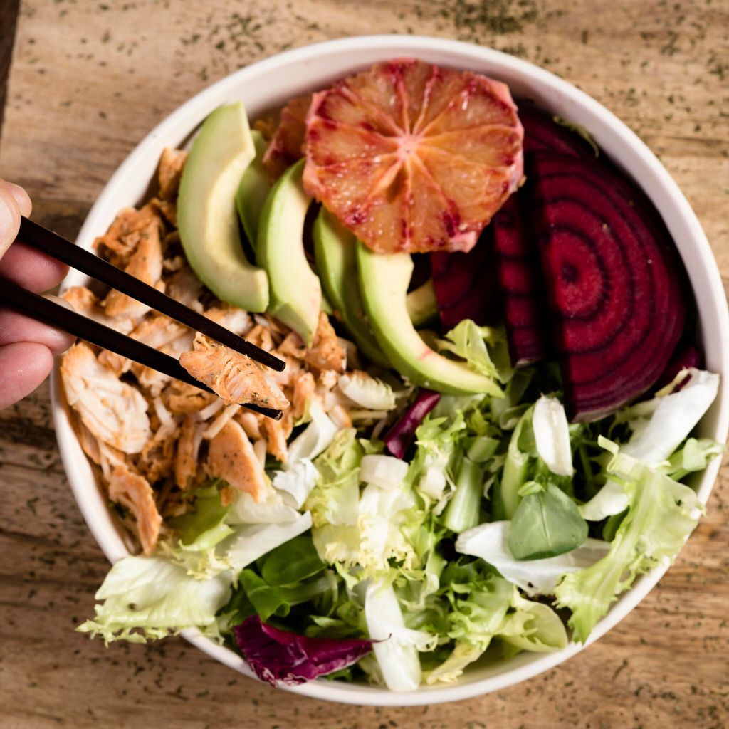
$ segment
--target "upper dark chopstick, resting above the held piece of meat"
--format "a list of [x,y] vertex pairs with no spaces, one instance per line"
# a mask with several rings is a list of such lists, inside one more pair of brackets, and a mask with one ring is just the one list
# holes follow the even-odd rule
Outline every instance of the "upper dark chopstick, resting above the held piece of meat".
[[[265,364],[276,372],[281,372],[286,367],[286,362],[278,357],[273,356],[270,352],[261,349],[250,342],[246,342],[238,335],[233,334],[230,330],[211,321],[197,311],[193,311],[179,301],[157,291],[153,286],[139,281],[126,271],[117,268],[103,258],[82,249],[81,247],[61,238],[58,233],[44,228],[42,225],[29,220],[26,217],[20,219],[20,233],[18,240],[33,246],[35,249],[48,254],[56,260],[66,263],[82,273],[86,273],[91,278],[101,281],[102,284],[111,286],[112,289],[126,294],[141,303],[147,304],[156,311],[166,314],[171,319],[185,324],[195,332],[202,332],[211,339],[217,340],[221,344],[235,349],[241,354],[246,354],[256,362]],[[108,327],[105,327],[108,328]],[[74,334],[75,332],[71,332]],[[82,336],[82,335],[79,335]],[[101,345],[104,346],[104,345]],[[109,347],[106,347],[109,349]],[[125,354],[125,353],[120,353]],[[158,367],[155,369],[159,369]]]

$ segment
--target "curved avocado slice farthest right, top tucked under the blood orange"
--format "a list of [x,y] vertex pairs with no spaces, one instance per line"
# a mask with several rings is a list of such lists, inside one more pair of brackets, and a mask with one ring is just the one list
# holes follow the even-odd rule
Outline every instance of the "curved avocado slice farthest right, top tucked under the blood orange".
[[408,253],[380,254],[357,243],[359,289],[375,338],[395,369],[411,382],[453,395],[496,394],[496,383],[464,362],[430,348],[416,332],[405,303],[413,260]]

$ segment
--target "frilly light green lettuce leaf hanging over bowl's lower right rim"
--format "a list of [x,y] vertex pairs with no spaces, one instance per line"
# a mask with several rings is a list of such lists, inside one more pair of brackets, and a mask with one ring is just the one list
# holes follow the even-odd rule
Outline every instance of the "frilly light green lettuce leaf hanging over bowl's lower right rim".
[[607,555],[566,574],[555,589],[558,606],[572,610],[569,625],[581,642],[637,575],[674,560],[704,510],[688,486],[625,453],[607,470],[622,483],[628,512]]

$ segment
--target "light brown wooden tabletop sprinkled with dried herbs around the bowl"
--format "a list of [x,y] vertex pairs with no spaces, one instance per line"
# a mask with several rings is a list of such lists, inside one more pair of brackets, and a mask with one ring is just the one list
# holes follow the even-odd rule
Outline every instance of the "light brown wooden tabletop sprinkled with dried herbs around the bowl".
[[[0,63],[14,7],[0,0]],[[22,1],[0,176],[26,186],[40,222],[73,237],[130,149],[208,83],[288,47],[389,32],[506,50],[606,104],[677,179],[727,281],[722,0]],[[0,413],[2,728],[729,726],[728,469],[674,568],[577,658],[450,706],[355,708],[260,685],[182,639],[106,650],[74,633],[107,564],[66,485],[49,408],[43,386]]]

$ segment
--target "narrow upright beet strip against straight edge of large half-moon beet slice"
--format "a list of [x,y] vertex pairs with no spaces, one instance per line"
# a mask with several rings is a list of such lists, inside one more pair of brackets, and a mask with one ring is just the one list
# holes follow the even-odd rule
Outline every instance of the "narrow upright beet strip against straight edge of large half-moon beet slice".
[[539,250],[524,209],[524,192],[512,195],[491,221],[514,367],[544,359],[553,350]]

